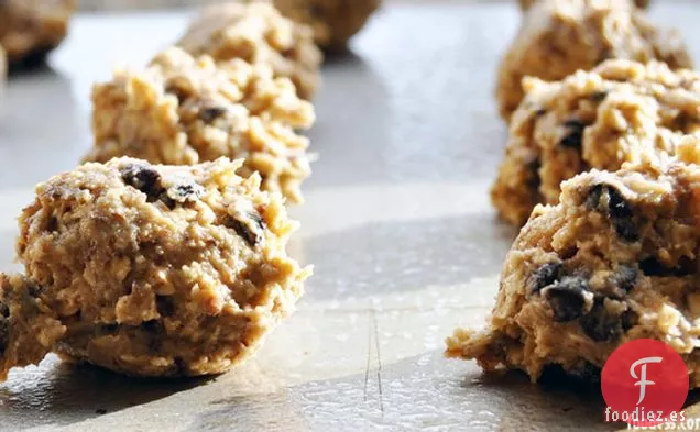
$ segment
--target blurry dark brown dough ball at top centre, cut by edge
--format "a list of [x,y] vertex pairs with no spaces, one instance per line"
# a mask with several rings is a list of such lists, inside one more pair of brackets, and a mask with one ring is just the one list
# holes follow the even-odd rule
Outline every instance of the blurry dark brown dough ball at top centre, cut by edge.
[[328,51],[346,47],[381,0],[273,0],[275,7],[291,19],[309,24],[316,43]]

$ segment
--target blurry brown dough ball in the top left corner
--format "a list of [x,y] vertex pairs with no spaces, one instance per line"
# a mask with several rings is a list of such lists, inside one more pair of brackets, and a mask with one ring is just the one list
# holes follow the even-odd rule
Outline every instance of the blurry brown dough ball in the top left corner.
[[44,59],[68,32],[75,0],[0,1],[0,45],[11,66]]

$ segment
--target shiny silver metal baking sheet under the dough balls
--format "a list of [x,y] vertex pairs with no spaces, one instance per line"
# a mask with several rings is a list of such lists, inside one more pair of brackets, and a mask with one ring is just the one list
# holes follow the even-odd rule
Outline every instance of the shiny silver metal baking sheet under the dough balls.
[[[659,2],[661,3],[661,2]],[[700,58],[692,2],[652,12]],[[442,357],[480,325],[515,232],[488,189],[505,129],[492,97],[514,4],[392,4],[329,59],[311,131],[318,153],[293,209],[292,252],[316,266],[298,312],[259,355],[209,379],[136,380],[47,358],[0,385],[0,431],[610,430],[575,383],[483,376]],[[139,67],[185,14],[79,15],[51,69],[13,77],[0,102],[0,269],[34,184],[87,149],[91,82]]]

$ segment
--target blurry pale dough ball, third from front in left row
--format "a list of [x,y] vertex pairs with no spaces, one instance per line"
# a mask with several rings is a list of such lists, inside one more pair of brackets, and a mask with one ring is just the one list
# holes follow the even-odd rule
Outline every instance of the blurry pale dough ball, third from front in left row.
[[314,43],[311,29],[282,16],[272,4],[209,7],[177,45],[217,62],[241,58],[270,65],[275,77],[292,79],[303,99],[310,99],[320,85],[324,56]]

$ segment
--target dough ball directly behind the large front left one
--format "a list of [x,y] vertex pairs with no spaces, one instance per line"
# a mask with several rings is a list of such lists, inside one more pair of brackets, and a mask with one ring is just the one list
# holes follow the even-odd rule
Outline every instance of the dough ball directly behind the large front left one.
[[287,78],[241,59],[215,64],[179,48],[151,67],[120,70],[92,90],[95,146],[86,160],[130,156],[163,165],[243,158],[239,175],[258,171],[262,187],[300,202],[310,175],[308,140],[313,106]]

